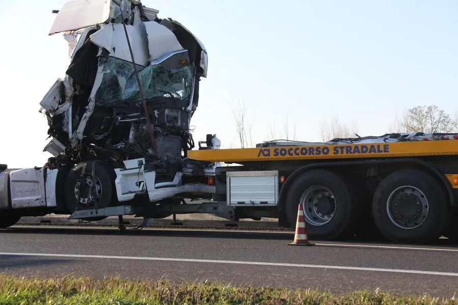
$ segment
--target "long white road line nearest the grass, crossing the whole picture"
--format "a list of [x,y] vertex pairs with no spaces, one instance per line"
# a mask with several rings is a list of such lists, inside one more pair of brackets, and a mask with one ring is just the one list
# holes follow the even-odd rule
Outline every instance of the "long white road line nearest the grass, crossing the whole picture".
[[50,253],[8,253],[8,252],[0,252],[0,256],[38,256],[38,257],[61,257],[61,258],[93,258],[93,259],[144,260],[144,261],[166,261],[166,262],[192,262],[192,263],[210,263],[210,264],[234,264],[234,265],[255,265],[255,266],[274,266],[274,267],[295,267],[295,268],[319,268],[319,269],[340,269],[340,270],[358,270],[358,271],[376,271],[376,272],[395,272],[395,273],[412,273],[412,274],[443,275],[443,276],[456,276],[456,277],[458,277],[458,273],[454,273],[454,272],[405,270],[405,269],[387,269],[387,268],[369,268],[369,267],[350,267],[350,266],[332,266],[332,265],[289,264],[289,263],[271,263],[271,262],[181,259],[181,258],[162,258],[162,257],[80,255],[80,254],[50,254]]

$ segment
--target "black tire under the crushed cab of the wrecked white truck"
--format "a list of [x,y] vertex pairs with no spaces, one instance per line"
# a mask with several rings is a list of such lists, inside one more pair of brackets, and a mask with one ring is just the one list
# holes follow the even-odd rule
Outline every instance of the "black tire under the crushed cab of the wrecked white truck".
[[[76,210],[84,210],[84,209],[92,209],[94,208],[94,201],[88,202],[87,205],[84,205],[81,202],[78,202],[75,196],[75,187],[78,181],[78,178],[81,176],[81,172],[83,170],[83,165],[85,165],[86,169],[85,172],[90,174],[92,172],[93,165],[95,166],[95,176],[96,176],[96,198],[97,200],[97,208],[105,208],[108,207],[111,202],[114,200],[113,193],[115,190],[114,183],[112,179],[113,169],[106,163],[102,161],[87,161],[87,162],[80,162],[73,167],[67,175],[67,179],[65,181],[65,203],[67,205],[68,210],[73,213]],[[89,201],[91,198],[87,198]],[[106,218],[105,216],[100,217],[90,217],[84,218],[83,220],[88,221],[97,221]]]

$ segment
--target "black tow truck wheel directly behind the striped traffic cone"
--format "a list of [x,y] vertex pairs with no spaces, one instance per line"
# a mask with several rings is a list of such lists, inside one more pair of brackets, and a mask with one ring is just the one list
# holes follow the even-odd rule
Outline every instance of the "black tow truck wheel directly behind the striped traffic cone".
[[336,174],[311,170],[300,175],[285,196],[285,212],[296,227],[298,205],[304,210],[307,235],[315,240],[332,240],[352,231],[356,213],[351,192]]

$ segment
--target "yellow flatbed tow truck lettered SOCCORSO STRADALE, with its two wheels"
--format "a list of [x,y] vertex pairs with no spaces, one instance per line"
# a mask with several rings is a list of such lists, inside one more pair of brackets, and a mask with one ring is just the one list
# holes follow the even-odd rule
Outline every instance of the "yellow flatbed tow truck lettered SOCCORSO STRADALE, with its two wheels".
[[456,134],[406,133],[327,143],[271,141],[189,151],[188,157],[242,165],[217,168],[213,199],[234,206],[240,216],[274,216],[280,226],[294,228],[302,204],[310,238],[359,231],[424,243],[458,235],[456,140]]

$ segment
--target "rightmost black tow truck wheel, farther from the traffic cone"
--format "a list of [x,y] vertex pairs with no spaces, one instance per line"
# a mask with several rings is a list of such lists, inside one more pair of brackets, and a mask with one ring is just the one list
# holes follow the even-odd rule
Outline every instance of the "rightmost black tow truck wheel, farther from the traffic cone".
[[392,242],[437,240],[448,223],[449,205],[439,183],[419,170],[399,170],[380,182],[372,212],[380,232]]

